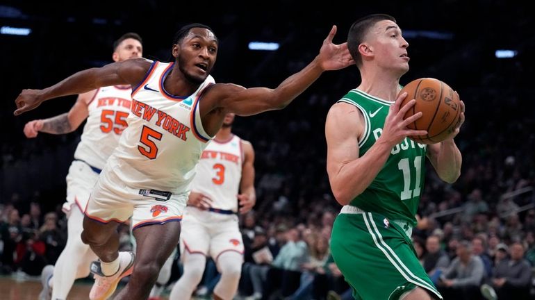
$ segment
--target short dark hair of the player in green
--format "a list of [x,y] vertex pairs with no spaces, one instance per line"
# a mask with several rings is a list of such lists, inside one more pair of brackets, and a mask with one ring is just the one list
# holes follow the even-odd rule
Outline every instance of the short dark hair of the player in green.
[[349,53],[353,57],[357,66],[362,65],[361,54],[359,53],[359,45],[363,42],[366,33],[374,26],[377,22],[384,20],[390,20],[396,22],[394,17],[391,15],[385,14],[373,14],[361,17],[361,19],[356,20],[351,28],[349,28],[349,33],[347,34],[347,48]]

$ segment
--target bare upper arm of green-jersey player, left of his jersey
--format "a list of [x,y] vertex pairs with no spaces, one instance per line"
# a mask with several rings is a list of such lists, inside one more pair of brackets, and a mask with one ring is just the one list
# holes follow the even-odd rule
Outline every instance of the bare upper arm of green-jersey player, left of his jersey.
[[325,122],[329,178],[334,178],[344,165],[359,158],[361,115],[356,108],[349,106],[347,103],[335,104]]

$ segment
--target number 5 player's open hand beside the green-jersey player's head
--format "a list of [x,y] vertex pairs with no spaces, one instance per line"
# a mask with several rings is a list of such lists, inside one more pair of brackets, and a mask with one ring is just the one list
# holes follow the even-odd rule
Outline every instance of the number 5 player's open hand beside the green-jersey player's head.
[[336,35],[336,25],[333,25],[327,38],[323,40],[320,49],[320,65],[325,71],[343,69],[350,65],[354,65],[349,49],[347,49],[347,42],[343,44],[334,44],[333,38]]

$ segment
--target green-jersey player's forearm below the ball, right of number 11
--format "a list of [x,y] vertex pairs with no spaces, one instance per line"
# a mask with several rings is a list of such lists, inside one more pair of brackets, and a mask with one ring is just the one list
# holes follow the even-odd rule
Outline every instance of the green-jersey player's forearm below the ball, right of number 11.
[[461,175],[463,158],[453,139],[445,140],[440,144],[436,159],[436,173],[447,183],[454,183]]

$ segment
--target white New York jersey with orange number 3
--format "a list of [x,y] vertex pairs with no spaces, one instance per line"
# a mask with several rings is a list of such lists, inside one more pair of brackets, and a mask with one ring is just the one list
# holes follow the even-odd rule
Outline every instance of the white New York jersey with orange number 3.
[[227,142],[212,140],[202,152],[191,190],[212,199],[212,207],[238,212],[238,192],[245,160],[242,142],[233,135]]

